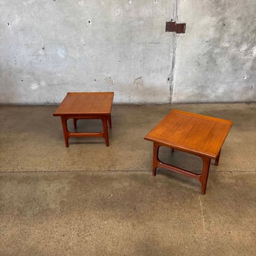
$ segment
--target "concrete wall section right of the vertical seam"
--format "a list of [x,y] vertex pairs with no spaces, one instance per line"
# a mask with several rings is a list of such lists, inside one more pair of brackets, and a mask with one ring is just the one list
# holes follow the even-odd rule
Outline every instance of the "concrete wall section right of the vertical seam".
[[256,100],[256,1],[180,0],[172,102]]

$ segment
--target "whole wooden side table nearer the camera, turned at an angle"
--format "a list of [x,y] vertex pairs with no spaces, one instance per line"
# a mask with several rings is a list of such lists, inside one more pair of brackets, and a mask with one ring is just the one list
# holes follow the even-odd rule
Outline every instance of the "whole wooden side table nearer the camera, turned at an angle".
[[[210,160],[214,159],[215,165],[218,165],[221,147],[232,124],[233,122],[229,120],[174,109],[144,137],[153,142],[153,175],[156,175],[157,167],[182,173],[199,180],[201,193],[204,195]],[[197,174],[160,162],[158,158],[160,146],[199,156],[203,160],[203,171]]]

